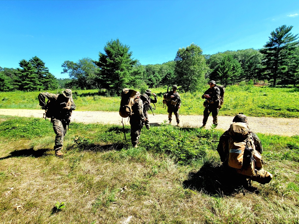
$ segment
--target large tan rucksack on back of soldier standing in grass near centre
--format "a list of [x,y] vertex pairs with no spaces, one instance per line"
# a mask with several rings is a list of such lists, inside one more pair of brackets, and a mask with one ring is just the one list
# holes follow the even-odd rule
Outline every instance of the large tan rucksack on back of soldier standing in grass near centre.
[[119,115],[121,117],[130,117],[133,114],[132,106],[134,98],[138,92],[132,89],[124,88],[120,93]]

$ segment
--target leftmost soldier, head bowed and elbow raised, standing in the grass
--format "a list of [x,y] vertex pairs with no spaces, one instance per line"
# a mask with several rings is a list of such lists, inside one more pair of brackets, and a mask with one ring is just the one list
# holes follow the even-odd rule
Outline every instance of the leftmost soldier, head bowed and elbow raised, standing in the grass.
[[[71,112],[76,109],[72,98],[72,90],[65,89],[62,94],[39,93],[39,105],[45,109],[45,115],[51,117],[51,123],[56,134],[55,137],[55,156],[62,156],[63,138],[66,134]],[[48,99],[47,104],[45,99]]]

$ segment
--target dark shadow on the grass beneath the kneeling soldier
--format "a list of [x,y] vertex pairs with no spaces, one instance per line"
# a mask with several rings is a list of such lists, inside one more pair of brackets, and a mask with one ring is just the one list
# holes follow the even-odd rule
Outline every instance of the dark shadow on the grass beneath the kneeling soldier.
[[185,188],[200,191],[208,195],[233,195],[244,189],[258,193],[257,188],[248,186],[244,177],[232,172],[224,172],[223,168],[213,161],[207,161],[197,172],[190,172],[183,182]]

